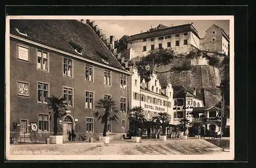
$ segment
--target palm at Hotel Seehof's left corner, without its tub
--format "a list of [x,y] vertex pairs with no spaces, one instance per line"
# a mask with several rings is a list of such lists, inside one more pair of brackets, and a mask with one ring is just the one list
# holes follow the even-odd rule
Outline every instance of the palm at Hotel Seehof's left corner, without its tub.
[[142,107],[135,106],[132,108],[133,114],[129,116],[131,125],[135,126],[135,136],[138,136],[138,129],[143,128],[143,122],[145,122],[144,115],[142,114]]

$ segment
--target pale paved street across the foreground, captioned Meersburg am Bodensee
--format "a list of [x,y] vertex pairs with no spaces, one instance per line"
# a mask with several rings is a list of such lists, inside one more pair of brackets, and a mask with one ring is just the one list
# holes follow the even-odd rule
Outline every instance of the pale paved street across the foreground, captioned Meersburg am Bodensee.
[[65,143],[11,145],[11,155],[212,155],[221,154],[221,148],[203,139],[172,139],[167,141],[112,140],[103,143]]

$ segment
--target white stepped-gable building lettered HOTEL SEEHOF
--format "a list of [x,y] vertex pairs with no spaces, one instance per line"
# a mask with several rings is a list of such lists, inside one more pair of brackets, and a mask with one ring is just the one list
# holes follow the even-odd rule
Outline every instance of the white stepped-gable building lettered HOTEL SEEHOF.
[[167,113],[170,120],[173,115],[173,89],[172,84],[168,83],[162,88],[156,73],[152,73],[149,77],[140,76],[136,67],[130,67],[130,109],[135,106],[143,108],[143,115],[147,120],[157,117],[158,113]]

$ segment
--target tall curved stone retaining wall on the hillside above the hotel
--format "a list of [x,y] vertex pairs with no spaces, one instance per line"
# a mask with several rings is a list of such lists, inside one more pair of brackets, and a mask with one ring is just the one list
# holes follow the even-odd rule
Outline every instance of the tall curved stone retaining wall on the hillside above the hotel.
[[209,65],[192,66],[189,71],[165,71],[157,72],[161,86],[167,81],[173,86],[183,86],[190,92],[196,88],[196,95],[201,98],[206,106],[214,106],[221,101],[220,86],[221,78],[219,70]]

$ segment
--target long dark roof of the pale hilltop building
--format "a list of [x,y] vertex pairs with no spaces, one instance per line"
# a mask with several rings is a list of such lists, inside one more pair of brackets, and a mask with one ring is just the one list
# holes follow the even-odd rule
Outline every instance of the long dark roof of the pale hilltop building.
[[158,37],[158,36],[165,36],[170,34],[182,33],[182,32],[190,32],[192,31],[199,39],[198,32],[195,27],[191,24],[183,24],[173,27],[167,27],[165,29],[159,29],[155,31],[149,31],[145,33],[140,33],[137,35],[131,36],[127,41],[139,40],[143,38],[151,38],[151,37]]

